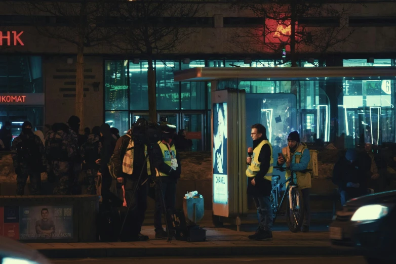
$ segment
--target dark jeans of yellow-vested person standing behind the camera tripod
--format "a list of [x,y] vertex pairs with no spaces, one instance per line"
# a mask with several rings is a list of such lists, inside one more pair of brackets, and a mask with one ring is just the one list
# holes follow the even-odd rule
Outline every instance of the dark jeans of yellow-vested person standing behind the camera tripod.
[[[162,229],[162,200],[159,185],[155,188],[155,211],[154,211],[154,228],[155,231]],[[174,210],[176,203],[176,183],[162,182],[163,198],[165,200],[166,211]],[[169,223],[170,224],[170,223]]]

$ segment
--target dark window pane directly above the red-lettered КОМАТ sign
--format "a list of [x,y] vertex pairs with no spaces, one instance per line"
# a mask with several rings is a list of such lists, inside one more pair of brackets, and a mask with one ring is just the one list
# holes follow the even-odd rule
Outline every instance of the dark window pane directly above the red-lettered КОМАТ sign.
[[0,93],[43,93],[39,56],[0,56]]

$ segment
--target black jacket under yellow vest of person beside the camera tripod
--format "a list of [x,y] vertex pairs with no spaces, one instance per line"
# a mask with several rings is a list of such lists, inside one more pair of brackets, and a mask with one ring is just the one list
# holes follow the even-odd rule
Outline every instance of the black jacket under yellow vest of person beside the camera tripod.
[[[174,141],[172,140],[171,143],[169,144],[170,147],[172,147],[174,145]],[[175,146],[176,148],[176,146]],[[169,166],[168,164],[166,164],[164,162],[163,159],[163,155],[162,155],[162,151],[160,148],[159,144],[154,144],[154,148],[153,148],[153,154],[154,154],[154,158],[153,158],[153,162],[154,162],[154,166],[157,170],[168,174],[168,177],[161,177],[161,180],[163,182],[177,182],[177,179],[180,178],[180,174],[181,174],[181,163],[180,163],[180,155],[176,149],[176,160],[177,160],[177,165],[178,167],[176,168],[176,170],[174,170],[171,166]]]

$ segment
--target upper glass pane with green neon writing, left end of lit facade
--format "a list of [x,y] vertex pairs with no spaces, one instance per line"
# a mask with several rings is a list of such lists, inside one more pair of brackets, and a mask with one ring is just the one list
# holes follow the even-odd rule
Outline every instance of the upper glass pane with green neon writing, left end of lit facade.
[[105,61],[104,82],[105,110],[128,110],[128,61]]

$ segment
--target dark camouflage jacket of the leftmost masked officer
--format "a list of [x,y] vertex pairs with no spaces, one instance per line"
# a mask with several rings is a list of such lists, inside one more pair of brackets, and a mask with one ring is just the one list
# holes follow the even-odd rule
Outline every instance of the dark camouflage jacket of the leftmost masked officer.
[[[28,148],[27,152],[24,152],[22,148],[25,148],[28,142],[31,143],[31,147]],[[26,153],[24,157],[22,157],[22,152]],[[16,137],[12,142],[11,156],[14,168],[32,168],[32,166],[38,168],[40,165],[47,165],[43,142],[34,134],[25,135],[22,132],[21,135]]]

